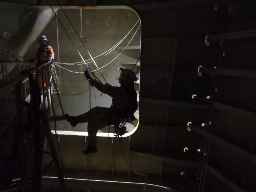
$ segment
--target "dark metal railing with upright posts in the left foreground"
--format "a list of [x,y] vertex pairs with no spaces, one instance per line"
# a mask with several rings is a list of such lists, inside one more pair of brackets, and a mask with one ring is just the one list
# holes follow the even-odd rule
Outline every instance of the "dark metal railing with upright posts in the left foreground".
[[[55,146],[53,144],[53,138],[51,136],[51,130],[48,122],[48,113],[50,112],[50,108],[46,109],[46,99],[48,102],[48,106],[50,106],[49,99],[49,91],[51,93],[51,83],[49,76],[49,63],[38,63],[38,66],[31,69],[24,69],[13,78],[11,81],[4,84],[4,86],[0,87],[0,98],[7,93],[10,93],[11,90],[15,90],[15,99],[16,99],[16,113],[13,114],[12,118],[5,122],[4,129],[0,130],[0,137],[4,136],[4,133],[10,133],[9,131],[13,130],[8,129],[10,125],[12,126],[15,123],[18,129],[14,129],[15,137],[17,136],[19,139],[17,140],[18,151],[20,154],[17,162],[22,165],[22,169],[20,169],[20,181],[18,183],[19,191],[27,191],[27,189],[32,188],[34,191],[39,191],[41,186],[41,163],[42,163],[42,150],[43,150],[43,142],[45,136],[47,136],[51,153],[53,154],[54,163],[57,167],[57,173],[60,179],[60,185],[62,191],[66,190],[65,181],[63,179],[63,175],[61,173],[60,160],[58,157]],[[1,66],[1,63],[0,63]],[[46,83],[46,88],[44,88],[44,84],[42,84],[42,89],[39,90],[38,82],[35,82],[32,73],[34,70],[38,73],[41,73],[41,81],[42,83]],[[48,74],[48,76],[46,76]],[[38,76],[37,76],[38,78]],[[24,82],[29,80],[29,91],[30,91],[30,101],[27,102],[23,98],[23,86]],[[27,84],[25,84],[27,87]],[[50,90],[49,90],[50,88]],[[25,90],[26,91],[26,90]],[[42,94],[38,92],[42,91]],[[45,93],[46,92],[46,93]],[[46,95],[47,94],[47,95]],[[43,99],[43,103],[41,102],[41,98]],[[8,98],[7,98],[8,99]],[[10,100],[13,100],[10,98]],[[28,111],[24,111],[23,108],[26,108]],[[46,110],[44,110],[46,109]],[[24,114],[26,114],[26,118],[24,118]],[[42,119],[43,121],[41,121]],[[13,121],[14,120],[14,121]],[[32,143],[26,142],[26,129],[25,125],[29,125],[30,134],[32,136]],[[46,134],[46,135],[45,135]],[[10,143],[11,144],[11,143]],[[16,144],[16,143],[15,143]],[[33,146],[32,150],[27,151],[26,148],[28,146]],[[8,146],[9,147],[9,146]],[[13,146],[11,146],[13,147]],[[15,146],[14,146],[15,147]],[[10,167],[11,168],[11,167]],[[29,175],[33,175],[33,178],[30,178]]]

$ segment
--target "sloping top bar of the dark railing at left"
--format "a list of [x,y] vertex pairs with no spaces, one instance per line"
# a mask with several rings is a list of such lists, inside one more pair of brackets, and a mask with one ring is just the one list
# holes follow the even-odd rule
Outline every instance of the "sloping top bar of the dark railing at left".
[[[18,61],[17,61],[18,62]],[[33,70],[33,69],[37,69],[40,70],[42,67],[48,65],[49,63],[51,63],[52,61],[48,61],[46,63],[42,63],[40,66],[36,67],[36,68],[31,68],[29,70]],[[11,92],[14,87],[22,82],[26,82],[26,80],[24,81],[24,78],[26,77],[26,74],[24,73],[20,73],[17,77],[13,78],[12,80],[10,80],[9,82],[7,82],[6,84],[4,84],[4,86],[0,87],[0,98],[5,96],[7,93]]]

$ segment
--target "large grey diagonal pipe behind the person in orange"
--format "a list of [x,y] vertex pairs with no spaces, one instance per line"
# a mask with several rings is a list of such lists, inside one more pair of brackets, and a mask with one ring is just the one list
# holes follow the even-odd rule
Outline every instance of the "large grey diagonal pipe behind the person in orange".
[[[23,61],[30,46],[45,29],[54,13],[51,9],[27,8],[20,15],[19,27],[12,38],[4,46],[0,46],[0,61]],[[7,65],[9,73],[17,63],[1,63]],[[3,76],[0,74],[0,79]]]

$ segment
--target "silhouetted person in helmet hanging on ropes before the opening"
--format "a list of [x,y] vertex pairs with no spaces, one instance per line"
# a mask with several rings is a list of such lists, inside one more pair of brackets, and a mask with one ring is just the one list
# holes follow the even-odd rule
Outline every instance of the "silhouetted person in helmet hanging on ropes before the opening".
[[134,89],[134,81],[137,80],[137,77],[132,70],[121,69],[119,77],[121,86],[113,87],[108,83],[102,84],[100,81],[93,79],[88,71],[85,71],[84,75],[92,87],[112,97],[110,108],[96,106],[87,113],[78,116],[65,115],[66,120],[73,127],[77,123],[88,122],[88,145],[82,152],[83,154],[90,154],[98,151],[96,148],[96,134],[99,129],[107,125],[117,125],[124,119],[131,118],[137,110],[137,94]]

